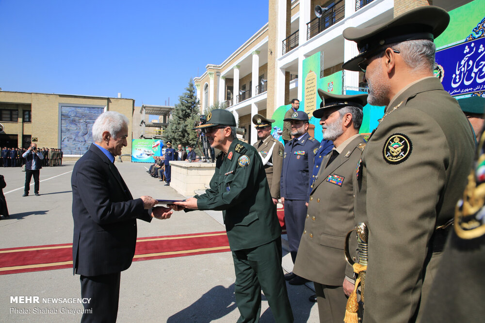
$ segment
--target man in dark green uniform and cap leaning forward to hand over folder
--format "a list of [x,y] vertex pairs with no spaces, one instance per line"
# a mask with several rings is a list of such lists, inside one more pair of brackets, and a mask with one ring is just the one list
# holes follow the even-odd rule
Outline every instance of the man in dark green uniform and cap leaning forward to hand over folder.
[[221,153],[210,189],[176,202],[174,209],[223,211],[236,271],[238,323],[259,321],[261,290],[275,321],[293,322],[281,268],[281,228],[266,174],[256,149],[236,138],[235,126],[232,113],[215,109],[207,123],[196,127],[205,130],[210,146]]

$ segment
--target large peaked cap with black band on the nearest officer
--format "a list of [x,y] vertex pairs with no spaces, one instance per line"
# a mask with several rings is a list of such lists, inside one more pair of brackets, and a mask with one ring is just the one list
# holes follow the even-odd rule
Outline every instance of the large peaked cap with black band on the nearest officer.
[[342,68],[360,71],[358,63],[386,49],[388,44],[417,39],[433,41],[446,29],[449,22],[450,15],[446,10],[435,6],[422,6],[384,24],[366,28],[346,28],[342,33],[343,37],[357,43],[359,54],[343,63]]

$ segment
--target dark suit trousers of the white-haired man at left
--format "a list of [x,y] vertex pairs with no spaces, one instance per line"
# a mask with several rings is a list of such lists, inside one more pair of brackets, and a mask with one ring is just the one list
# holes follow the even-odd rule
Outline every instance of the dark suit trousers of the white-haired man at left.
[[84,309],[91,309],[91,313],[83,313],[81,323],[114,323],[118,316],[118,301],[120,295],[120,273],[82,276],[81,297],[90,298],[90,302],[83,304]]

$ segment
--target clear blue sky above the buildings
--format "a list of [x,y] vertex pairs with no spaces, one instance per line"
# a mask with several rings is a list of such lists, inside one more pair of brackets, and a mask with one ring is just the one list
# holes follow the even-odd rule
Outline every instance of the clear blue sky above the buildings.
[[0,0],[0,88],[173,105],[267,21],[266,0]]

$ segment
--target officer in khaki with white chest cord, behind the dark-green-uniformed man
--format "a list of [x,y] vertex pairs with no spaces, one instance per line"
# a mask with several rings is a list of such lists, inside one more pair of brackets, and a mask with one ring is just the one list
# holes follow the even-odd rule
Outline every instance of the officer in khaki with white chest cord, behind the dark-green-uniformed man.
[[261,156],[268,185],[270,186],[271,197],[276,205],[279,199],[279,181],[285,147],[271,135],[271,123],[274,122],[275,120],[266,119],[260,114],[254,115],[253,123],[258,132],[258,141],[254,143],[253,147],[256,148]]

